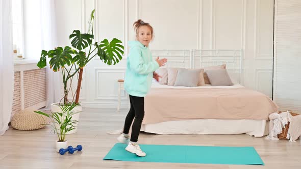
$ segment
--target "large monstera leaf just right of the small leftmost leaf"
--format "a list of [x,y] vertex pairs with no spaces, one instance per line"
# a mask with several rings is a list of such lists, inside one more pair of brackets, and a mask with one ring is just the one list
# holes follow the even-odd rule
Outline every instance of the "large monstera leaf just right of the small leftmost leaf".
[[58,47],[55,50],[49,50],[48,58],[51,58],[49,61],[50,68],[53,68],[53,71],[56,72],[60,70],[60,66],[70,66],[73,62],[71,54],[74,54],[74,50],[72,50],[69,46],[66,46],[64,50],[62,47]]

